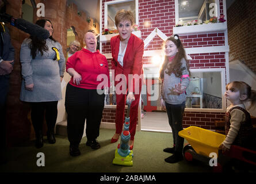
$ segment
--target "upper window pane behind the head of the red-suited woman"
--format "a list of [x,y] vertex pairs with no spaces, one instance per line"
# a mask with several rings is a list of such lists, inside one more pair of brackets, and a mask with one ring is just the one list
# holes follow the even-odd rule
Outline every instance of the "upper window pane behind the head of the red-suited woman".
[[136,22],[135,1],[121,2],[121,3],[108,5],[108,29],[109,30],[117,29],[116,24],[114,24],[114,17],[116,17],[117,11],[122,9],[132,11],[134,22]]

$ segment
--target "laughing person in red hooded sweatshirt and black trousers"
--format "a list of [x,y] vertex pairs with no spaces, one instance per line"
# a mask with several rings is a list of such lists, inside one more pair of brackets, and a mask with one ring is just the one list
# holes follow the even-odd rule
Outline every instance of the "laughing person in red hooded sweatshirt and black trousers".
[[[104,86],[109,86],[109,69],[106,57],[96,50],[95,34],[85,34],[86,48],[75,52],[67,60],[66,70],[72,76],[66,89],[65,107],[67,112],[67,135],[70,141],[70,155],[80,155],[79,143],[83,136],[86,120],[86,145],[98,149],[100,144],[96,138],[100,135],[102,111],[105,94],[98,93],[102,89],[99,75],[105,75]],[[104,82],[104,81],[103,81]]]

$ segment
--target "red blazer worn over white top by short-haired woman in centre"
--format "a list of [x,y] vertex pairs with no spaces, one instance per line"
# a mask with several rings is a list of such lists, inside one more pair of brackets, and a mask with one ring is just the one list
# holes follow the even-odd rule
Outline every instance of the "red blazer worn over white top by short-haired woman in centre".
[[[112,52],[112,69],[114,70],[114,77],[118,74],[124,74],[126,80],[128,81],[128,74],[137,74],[142,75],[142,79],[139,82],[139,90],[142,87],[143,78],[143,68],[142,68],[142,60],[143,60],[143,52],[144,52],[144,42],[139,39],[137,36],[131,33],[131,37],[129,38],[128,45],[125,51],[123,66],[118,62],[118,54],[119,54],[119,46],[120,46],[120,36],[113,36],[110,40],[111,52]],[[115,85],[118,82],[115,82]],[[135,79],[133,78],[133,85],[131,86],[131,82],[128,82],[127,87],[129,87],[129,92],[135,92]],[[131,87],[131,88],[130,88]]]

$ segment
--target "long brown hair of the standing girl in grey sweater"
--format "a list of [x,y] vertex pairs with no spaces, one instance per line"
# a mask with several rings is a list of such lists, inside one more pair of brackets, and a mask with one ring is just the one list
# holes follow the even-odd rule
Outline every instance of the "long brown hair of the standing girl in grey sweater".
[[[174,37],[178,38],[178,39],[174,39]],[[178,52],[176,53],[176,55],[171,63],[169,63],[167,56],[165,56],[165,61],[163,62],[163,65],[160,70],[160,79],[163,79],[163,76],[165,75],[164,72],[165,72],[166,68],[167,68],[166,74],[171,75],[171,73],[174,73],[176,77],[181,77],[181,75],[182,75],[182,71],[181,71],[182,58],[184,58],[186,60],[186,67],[188,68],[188,71],[189,71],[189,60],[186,58],[185,49],[183,47],[183,44],[181,43],[181,40],[179,40],[178,35],[174,34],[173,37],[169,37],[167,40],[172,41],[176,45],[176,47],[178,48]],[[189,71],[189,75],[190,75],[190,71]]]

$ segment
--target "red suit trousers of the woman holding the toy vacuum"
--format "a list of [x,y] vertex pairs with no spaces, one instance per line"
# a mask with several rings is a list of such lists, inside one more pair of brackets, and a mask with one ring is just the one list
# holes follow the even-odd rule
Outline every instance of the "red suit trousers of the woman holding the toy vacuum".
[[[126,94],[116,94],[116,133],[120,134],[123,130],[124,124],[124,109],[126,102]],[[131,140],[134,140],[137,125],[137,114],[140,101],[140,94],[135,94],[135,101],[132,102],[130,108],[130,125],[129,132],[131,133]]]

